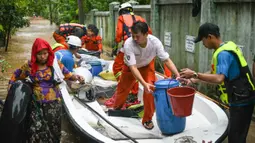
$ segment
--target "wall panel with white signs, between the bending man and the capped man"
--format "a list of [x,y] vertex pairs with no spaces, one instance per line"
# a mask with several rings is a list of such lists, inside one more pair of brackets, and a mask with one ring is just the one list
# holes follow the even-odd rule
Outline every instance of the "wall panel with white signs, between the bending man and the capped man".
[[[194,52],[185,51],[186,35],[196,35],[199,27],[200,16],[191,17],[192,5],[183,4],[164,4],[159,9],[159,38],[165,42],[165,32],[171,32],[171,46],[165,45],[171,59],[178,68],[190,67],[197,68],[199,50]],[[196,47],[198,47],[196,45]]]

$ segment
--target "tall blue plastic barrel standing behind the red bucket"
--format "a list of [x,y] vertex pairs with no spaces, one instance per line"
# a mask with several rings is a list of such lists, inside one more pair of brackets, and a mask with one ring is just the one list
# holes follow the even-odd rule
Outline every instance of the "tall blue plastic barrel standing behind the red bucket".
[[178,87],[179,84],[179,81],[175,79],[163,79],[155,82],[154,102],[157,123],[160,131],[166,135],[180,133],[185,129],[186,117],[173,115],[170,98],[167,95],[167,89]]

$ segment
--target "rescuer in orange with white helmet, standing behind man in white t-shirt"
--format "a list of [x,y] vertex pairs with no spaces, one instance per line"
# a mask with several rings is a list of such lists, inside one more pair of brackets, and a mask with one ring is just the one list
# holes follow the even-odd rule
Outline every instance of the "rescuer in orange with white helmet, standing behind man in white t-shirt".
[[[145,22],[145,20],[133,13],[133,7],[130,3],[126,2],[120,5],[119,7],[119,17],[116,27],[116,36],[115,36],[115,46],[113,49],[113,55],[116,55],[113,63],[113,74],[117,81],[120,79],[121,70],[124,65],[124,53],[123,48],[118,49],[118,43],[120,43],[123,40],[123,45],[127,38],[131,37],[131,27],[134,22],[136,21],[142,21]],[[151,29],[149,28],[149,34],[152,34]],[[123,47],[122,45],[122,47]],[[138,101],[137,93],[138,93],[138,87],[139,84],[136,82],[134,84],[134,87],[130,91],[129,100],[127,101],[127,106],[139,104],[140,101]],[[129,94],[129,93],[128,93]],[[107,107],[111,107],[114,103],[116,96],[116,92],[112,96],[112,98],[108,99],[104,104]],[[125,108],[125,107],[124,107]]]

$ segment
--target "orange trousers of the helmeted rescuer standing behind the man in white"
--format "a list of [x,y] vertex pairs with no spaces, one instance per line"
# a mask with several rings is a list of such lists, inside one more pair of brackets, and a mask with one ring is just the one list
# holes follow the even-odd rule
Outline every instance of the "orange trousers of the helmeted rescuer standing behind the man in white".
[[[125,63],[124,63],[124,53],[119,51],[116,58],[114,59],[114,63],[113,63],[113,66],[112,66],[113,74],[116,77],[117,81],[119,81],[119,79],[120,79],[120,74],[122,72],[122,68],[123,68],[124,65],[125,65]],[[139,89],[139,83],[136,82],[134,84],[133,88],[131,89],[131,93],[132,94],[137,94],[138,89]]]

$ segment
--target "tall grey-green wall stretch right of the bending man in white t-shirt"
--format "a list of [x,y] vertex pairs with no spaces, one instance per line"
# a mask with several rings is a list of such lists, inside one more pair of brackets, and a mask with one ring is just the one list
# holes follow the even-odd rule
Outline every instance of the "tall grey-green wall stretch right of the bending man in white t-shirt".
[[252,64],[255,53],[255,0],[202,0],[201,12],[192,17],[192,0],[152,0],[152,27],[164,43],[165,32],[171,32],[171,46],[166,46],[178,68],[189,67],[200,72],[210,70],[212,51],[202,43],[194,52],[185,49],[186,35],[197,36],[199,26],[212,22],[220,27],[224,41],[234,41],[243,48]]

